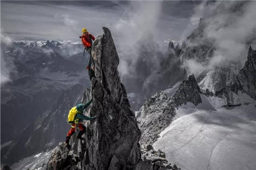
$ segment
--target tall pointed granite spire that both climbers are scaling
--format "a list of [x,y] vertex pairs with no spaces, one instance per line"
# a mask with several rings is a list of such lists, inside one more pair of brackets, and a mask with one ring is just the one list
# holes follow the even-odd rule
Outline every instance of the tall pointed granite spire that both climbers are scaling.
[[141,132],[118,76],[119,58],[111,32],[103,30],[92,48],[95,78],[90,116],[97,119],[87,124],[83,163],[86,169],[122,169],[138,163]]

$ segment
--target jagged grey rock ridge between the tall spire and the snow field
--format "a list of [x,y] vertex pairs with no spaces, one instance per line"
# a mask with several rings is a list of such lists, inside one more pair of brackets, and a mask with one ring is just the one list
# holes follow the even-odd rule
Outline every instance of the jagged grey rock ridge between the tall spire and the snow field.
[[[169,93],[172,91],[172,94]],[[202,103],[200,88],[194,75],[189,76],[179,86],[168,91],[159,91],[146,100],[137,120],[142,132],[140,143],[153,144],[166,127],[172,123],[176,108],[187,102]]]

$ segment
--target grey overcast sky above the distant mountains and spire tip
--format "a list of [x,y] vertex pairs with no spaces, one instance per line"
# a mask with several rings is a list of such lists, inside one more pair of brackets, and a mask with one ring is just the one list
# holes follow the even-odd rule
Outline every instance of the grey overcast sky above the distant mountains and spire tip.
[[1,34],[13,40],[80,41],[83,27],[97,36],[105,26],[111,29],[114,39],[137,40],[144,31],[151,31],[157,41],[180,40],[199,3],[1,1]]

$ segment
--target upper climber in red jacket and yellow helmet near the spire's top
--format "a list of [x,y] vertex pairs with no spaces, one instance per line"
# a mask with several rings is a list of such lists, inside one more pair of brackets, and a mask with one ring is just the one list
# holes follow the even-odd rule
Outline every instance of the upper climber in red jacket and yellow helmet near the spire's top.
[[[80,38],[84,46],[84,50],[86,50],[90,54],[90,59],[86,68],[88,69],[90,80],[92,80],[92,77],[95,77],[94,75],[95,66],[94,66],[94,61],[92,59],[91,51],[92,51],[93,40],[95,40],[95,38],[92,34],[90,34],[87,31],[86,28],[82,29],[82,36],[80,36]],[[93,63],[93,67],[91,68],[92,63]]]

